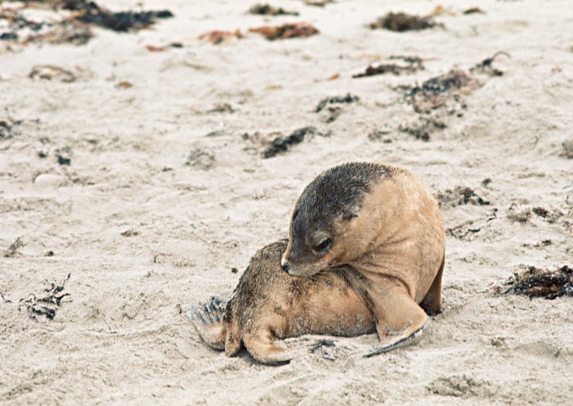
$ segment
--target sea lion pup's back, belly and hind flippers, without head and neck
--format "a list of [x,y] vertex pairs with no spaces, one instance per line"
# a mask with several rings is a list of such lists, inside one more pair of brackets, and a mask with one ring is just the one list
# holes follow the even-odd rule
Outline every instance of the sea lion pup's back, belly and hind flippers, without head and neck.
[[287,363],[293,354],[275,340],[304,334],[353,337],[374,333],[375,322],[361,293],[350,281],[361,275],[340,266],[310,277],[296,277],[281,268],[286,240],[267,245],[252,257],[226,302],[210,303],[188,315],[203,341],[233,356],[245,345],[261,363]]

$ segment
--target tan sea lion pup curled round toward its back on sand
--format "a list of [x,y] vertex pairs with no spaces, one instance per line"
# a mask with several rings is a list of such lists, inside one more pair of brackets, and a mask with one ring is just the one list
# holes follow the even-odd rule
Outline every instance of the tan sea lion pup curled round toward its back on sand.
[[404,169],[350,163],[321,173],[296,201],[289,236],[256,253],[229,303],[213,297],[191,310],[210,347],[232,356],[244,344],[258,361],[283,363],[291,354],[276,339],[376,331],[371,356],[414,344],[426,312],[441,311],[442,216]]

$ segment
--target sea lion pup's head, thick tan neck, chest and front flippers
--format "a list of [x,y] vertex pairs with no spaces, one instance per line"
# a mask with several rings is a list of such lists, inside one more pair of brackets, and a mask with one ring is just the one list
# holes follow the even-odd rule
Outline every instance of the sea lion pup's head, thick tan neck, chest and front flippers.
[[418,342],[428,314],[441,312],[445,246],[426,184],[402,168],[350,162],[318,175],[296,201],[282,267],[313,277],[347,264],[361,275],[351,283],[380,340],[370,356]]

